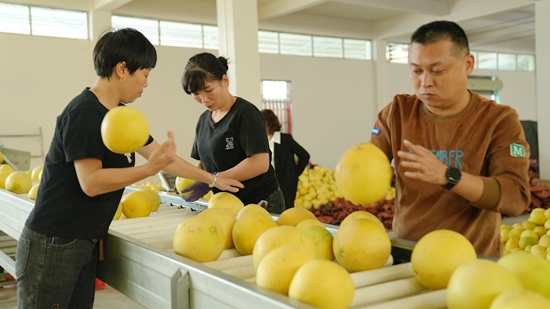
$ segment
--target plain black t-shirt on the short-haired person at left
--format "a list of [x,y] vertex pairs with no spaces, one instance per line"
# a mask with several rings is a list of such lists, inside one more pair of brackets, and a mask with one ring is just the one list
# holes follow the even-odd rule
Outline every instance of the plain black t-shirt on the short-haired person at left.
[[[103,168],[134,166],[135,153],[115,154],[103,144],[101,121],[107,112],[87,88],[57,117],[35,206],[25,223],[31,230],[79,239],[107,234],[124,189],[89,197],[74,166],[74,160],[85,158],[100,159]],[[147,144],[151,142],[149,137]]]

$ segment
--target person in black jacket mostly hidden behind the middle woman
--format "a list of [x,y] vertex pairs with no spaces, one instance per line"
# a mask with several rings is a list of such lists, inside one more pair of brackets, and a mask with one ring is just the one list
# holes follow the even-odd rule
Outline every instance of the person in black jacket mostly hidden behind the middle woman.
[[309,153],[300,146],[291,134],[281,133],[279,118],[270,109],[262,110],[272,157],[271,164],[275,168],[277,180],[283,190],[285,205],[294,207],[298,177],[309,162]]

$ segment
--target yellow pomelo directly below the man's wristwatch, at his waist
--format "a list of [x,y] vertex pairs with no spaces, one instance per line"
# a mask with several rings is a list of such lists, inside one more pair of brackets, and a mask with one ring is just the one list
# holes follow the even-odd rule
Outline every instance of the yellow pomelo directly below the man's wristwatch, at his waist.
[[464,235],[441,229],[420,238],[412,251],[411,266],[420,283],[439,290],[447,287],[456,268],[476,258],[474,246]]

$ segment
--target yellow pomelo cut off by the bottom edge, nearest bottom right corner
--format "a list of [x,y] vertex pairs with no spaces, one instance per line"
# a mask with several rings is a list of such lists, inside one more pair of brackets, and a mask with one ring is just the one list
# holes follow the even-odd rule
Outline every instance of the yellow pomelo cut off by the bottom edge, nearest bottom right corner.
[[489,309],[548,309],[550,299],[531,290],[516,289],[498,294]]

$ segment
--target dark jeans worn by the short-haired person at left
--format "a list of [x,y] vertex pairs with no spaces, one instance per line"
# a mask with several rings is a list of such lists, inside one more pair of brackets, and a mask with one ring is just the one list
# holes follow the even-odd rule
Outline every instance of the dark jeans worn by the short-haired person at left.
[[92,308],[98,245],[23,228],[15,273],[19,309]]

